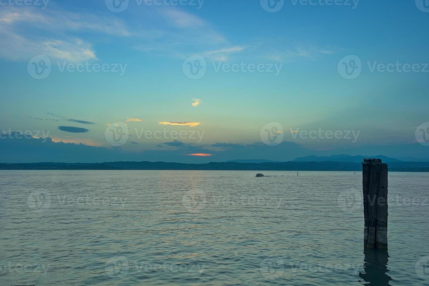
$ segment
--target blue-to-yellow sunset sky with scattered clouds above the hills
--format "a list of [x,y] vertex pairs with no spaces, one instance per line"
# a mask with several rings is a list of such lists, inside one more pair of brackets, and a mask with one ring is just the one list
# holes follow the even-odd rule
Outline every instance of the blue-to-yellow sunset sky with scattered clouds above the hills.
[[3,162],[429,160],[426,0],[3,0],[0,22]]

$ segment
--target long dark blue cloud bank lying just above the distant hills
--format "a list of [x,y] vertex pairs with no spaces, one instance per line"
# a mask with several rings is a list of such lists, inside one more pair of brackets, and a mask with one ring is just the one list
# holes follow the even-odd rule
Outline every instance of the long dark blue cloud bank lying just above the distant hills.
[[[130,142],[128,144],[131,144]],[[429,158],[429,148],[418,143],[393,146],[366,146],[353,149],[314,151],[302,148],[293,142],[283,142],[270,147],[260,142],[253,144],[216,143],[195,145],[181,141],[158,145],[160,150],[132,153],[121,148],[102,148],[83,144],[53,142],[45,139],[0,139],[2,156],[0,163],[101,163],[113,161],[164,161],[179,163],[224,162],[239,159],[266,159],[290,161],[308,155],[329,156],[333,154],[385,155],[388,157]],[[214,150],[215,148],[215,150]],[[208,153],[210,157],[187,156],[187,154]]]

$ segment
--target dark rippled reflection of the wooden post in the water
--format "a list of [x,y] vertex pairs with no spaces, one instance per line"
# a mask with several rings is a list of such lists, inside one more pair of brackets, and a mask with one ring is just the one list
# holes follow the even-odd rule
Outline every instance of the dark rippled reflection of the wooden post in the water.
[[389,282],[393,279],[386,274],[390,271],[387,269],[390,257],[387,250],[365,249],[363,253],[365,255],[363,263],[365,273],[359,272],[359,277],[367,282],[363,285],[390,286]]

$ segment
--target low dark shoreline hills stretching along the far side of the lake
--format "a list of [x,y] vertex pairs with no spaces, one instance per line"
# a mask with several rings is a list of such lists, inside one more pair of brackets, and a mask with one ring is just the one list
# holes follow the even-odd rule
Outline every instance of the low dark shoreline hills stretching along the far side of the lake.
[[[184,164],[166,162],[105,163],[0,163],[0,170],[242,170],[242,171],[362,171],[361,162],[211,162]],[[391,162],[390,172],[429,172],[428,162]]]

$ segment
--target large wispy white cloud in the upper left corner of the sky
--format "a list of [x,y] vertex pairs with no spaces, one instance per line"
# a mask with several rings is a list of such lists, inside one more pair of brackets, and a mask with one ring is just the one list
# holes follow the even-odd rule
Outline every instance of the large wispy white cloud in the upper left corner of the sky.
[[2,6],[0,56],[8,60],[28,60],[38,54],[44,54],[52,60],[97,60],[91,43],[70,34],[80,31],[116,36],[130,34],[121,21],[112,17],[40,10],[31,6],[22,6],[19,9]]

